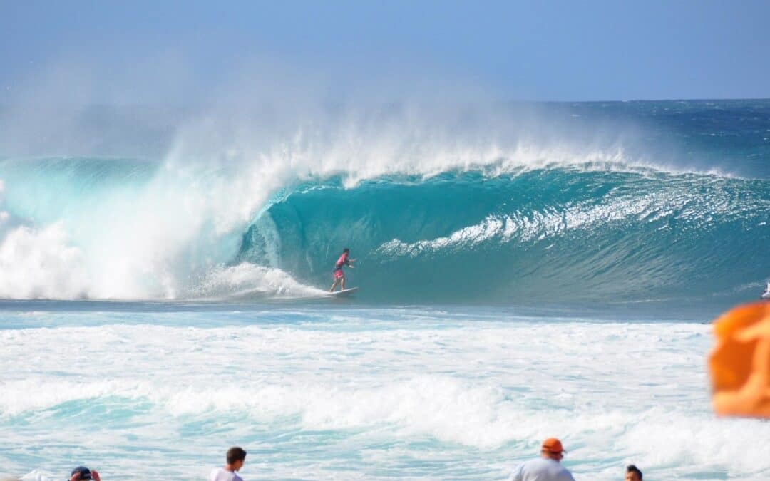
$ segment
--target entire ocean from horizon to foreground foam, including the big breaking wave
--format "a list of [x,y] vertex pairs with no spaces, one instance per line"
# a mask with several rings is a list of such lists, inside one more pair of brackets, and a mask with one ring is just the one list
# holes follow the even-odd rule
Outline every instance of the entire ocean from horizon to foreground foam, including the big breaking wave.
[[0,135],[0,474],[768,479],[705,359],[770,276],[770,101],[482,113]]

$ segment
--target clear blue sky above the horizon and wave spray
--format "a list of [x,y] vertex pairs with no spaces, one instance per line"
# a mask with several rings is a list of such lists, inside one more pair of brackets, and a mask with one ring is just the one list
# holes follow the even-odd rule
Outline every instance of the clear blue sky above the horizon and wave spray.
[[88,82],[95,99],[184,102],[260,69],[333,95],[767,98],[770,2],[0,0],[0,102],[46,75]]

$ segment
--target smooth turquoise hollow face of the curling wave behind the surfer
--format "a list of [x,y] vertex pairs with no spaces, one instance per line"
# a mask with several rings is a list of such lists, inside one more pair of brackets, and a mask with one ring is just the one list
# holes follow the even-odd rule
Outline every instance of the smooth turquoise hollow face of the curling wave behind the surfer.
[[323,285],[350,246],[351,282],[382,301],[731,297],[770,272],[768,209],[767,181],[710,175],[379,179],[294,192],[251,225],[237,259]]

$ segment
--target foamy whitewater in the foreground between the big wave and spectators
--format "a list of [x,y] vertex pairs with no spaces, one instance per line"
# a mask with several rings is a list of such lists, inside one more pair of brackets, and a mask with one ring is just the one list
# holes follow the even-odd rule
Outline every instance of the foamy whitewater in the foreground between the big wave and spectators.
[[[0,473],[507,476],[560,436],[577,479],[766,479],[770,425],[716,419],[709,327],[483,309],[32,312],[0,330]],[[55,326],[55,327],[49,327]],[[61,476],[60,476],[61,477]]]

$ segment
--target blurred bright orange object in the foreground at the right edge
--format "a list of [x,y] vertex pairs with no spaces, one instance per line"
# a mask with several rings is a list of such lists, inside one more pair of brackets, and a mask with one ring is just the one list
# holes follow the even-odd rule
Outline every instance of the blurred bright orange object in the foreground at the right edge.
[[770,418],[770,302],[725,312],[714,335],[708,369],[716,413]]

